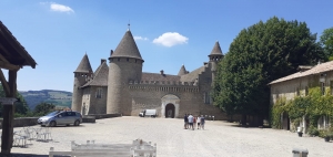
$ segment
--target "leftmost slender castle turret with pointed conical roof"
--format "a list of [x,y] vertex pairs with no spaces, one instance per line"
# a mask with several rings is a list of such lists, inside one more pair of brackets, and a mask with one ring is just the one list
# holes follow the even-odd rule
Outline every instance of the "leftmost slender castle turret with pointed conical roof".
[[74,71],[72,111],[81,112],[82,94],[83,94],[81,86],[84,85],[91,77],[92,77],[92,69],[88,55],[84,54],[78,69]]

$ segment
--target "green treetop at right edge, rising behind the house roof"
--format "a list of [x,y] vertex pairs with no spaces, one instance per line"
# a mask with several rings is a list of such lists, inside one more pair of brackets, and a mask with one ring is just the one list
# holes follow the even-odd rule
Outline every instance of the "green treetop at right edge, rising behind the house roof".
[[324,49],[324,53],[330,59],[333,60],[333,28],[325,29],[321,35],[320,43]]

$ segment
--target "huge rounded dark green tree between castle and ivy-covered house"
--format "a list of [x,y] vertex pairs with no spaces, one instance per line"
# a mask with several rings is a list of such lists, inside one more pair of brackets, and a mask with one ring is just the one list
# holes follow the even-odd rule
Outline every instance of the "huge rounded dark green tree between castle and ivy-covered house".
[[242,122],[246,115],[268,117],[268,84],[319,60],[326,57],[305,22],[260,21],[239,33],[219,63],[214,103],[229,115],[243,115]]

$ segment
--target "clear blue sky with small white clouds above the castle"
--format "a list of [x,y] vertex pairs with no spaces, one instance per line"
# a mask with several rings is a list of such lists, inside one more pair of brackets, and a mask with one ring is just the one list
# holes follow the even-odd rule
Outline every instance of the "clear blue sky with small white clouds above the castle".
[[219,41],[226,53],[238,33],[276,15],[306,22],[319,35],[333,27],[333,1],[322,0],[0,0],[0,20],[38,63],[18,73],[18,90],[72,92],[87,52],[95,70],[131,23],[143,72],[178,74],[208,61]]

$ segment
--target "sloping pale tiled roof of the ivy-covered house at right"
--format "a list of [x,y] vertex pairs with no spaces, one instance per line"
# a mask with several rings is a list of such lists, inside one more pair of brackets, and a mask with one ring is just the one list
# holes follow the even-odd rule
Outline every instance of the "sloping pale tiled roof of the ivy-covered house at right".
[[310,69],[307,71],[304,71],[304,72],[297,72],[297,73],[287,75],[285,77],[281,77],[279,80],[275,80],[275,81],[269,83],[269,85],[270,84],[275,84],[275,83],[281,83],[281,82],[284,82],[284,81],[290,81],[290,80],[293,80],[293,78],[299,78],[299,77],[304,77],[304,76],[309,76],[309,75],[320,74],[320,73],[324,73],[324,72],[329,72],[329,71],[333,71],[333,61],[325,62],[325,63],[322,63],[322,64],[317,64],[317,65],[313,66],[312,69]]

